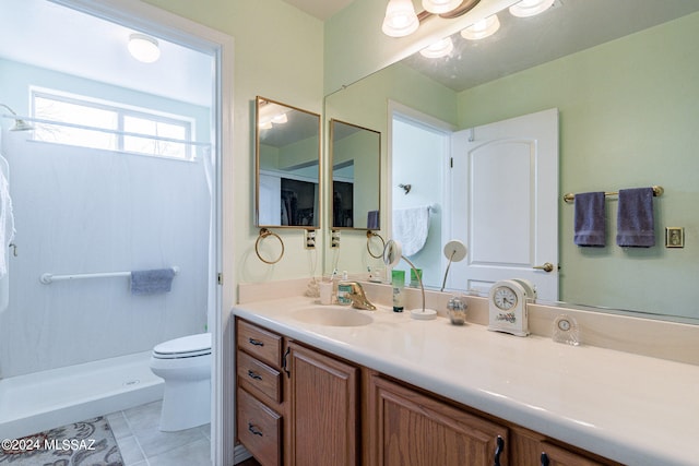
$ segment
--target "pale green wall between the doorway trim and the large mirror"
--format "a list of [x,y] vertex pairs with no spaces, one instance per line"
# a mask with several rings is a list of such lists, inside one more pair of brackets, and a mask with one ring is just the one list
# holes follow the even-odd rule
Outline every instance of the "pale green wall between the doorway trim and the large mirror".
[[[233,128],[229,129],[234,153],[224,154],[223,160],[223,172],[226,174],[223,180],[224,223],[233,223],[235,251],[224,248],[223,253],[226,263],[235,263],[236,282],[311,275],[315,256],[307,258],[309,252],[301,247],[303,230],[275,230],[286,249],[284,258],[273,266],[262,263],[254,253],[259,229],[253,223],[253,118],[258,95],[316,113],[322,112],[323,22],[281,0],[144,1],[221,31],[235,40],[234,115]],[[229,177],[227,174],[230,172]],[[319,236],[321,250],[322,240]],[[271,250],[268,255],[276,253],[276,250]],[[320,258],[316,261],[320,264]],[[235,287],[237,283],[227,282],[226,286]]]

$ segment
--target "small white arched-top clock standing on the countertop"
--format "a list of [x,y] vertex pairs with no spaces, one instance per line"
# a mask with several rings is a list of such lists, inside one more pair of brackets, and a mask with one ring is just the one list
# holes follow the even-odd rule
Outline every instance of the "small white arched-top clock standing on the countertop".
[[488,298],[488,330],[529,335],[526,303],[536,298],[534,286],[529,280],[499,280],[490,288]]

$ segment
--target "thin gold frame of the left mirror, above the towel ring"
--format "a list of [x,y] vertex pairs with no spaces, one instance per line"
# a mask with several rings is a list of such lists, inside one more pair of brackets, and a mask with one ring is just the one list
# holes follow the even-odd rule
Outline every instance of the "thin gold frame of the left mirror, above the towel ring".
[[[317,134],[318,134],[318,145],[317,145],[317,157],[318,162],[318,174],[317,174],[317,189],[316,189],[316,200],[318,202],[318,208],[313,214],[313,224],[312,225],[269,225],[260,223],[260,118],[261,118],[261,105],[262,103],[269,103],[279,105],[282,107],[286,107],[294,111],[300,111],[303,113],[307,113],[308,116],[316,117],[318,120],[317,124]],[[322,138],[321,138],[321,116],[320,113],[316,113],[312,111],[304,110],[303,108],[294,107],[293,105],[284,104],[271,98],[257,96],[254,99],[254,218],[253,225],[258,228],[295,228],[295,229],[320,229],[321,222],[323,217],[323,202],[322,202]]]

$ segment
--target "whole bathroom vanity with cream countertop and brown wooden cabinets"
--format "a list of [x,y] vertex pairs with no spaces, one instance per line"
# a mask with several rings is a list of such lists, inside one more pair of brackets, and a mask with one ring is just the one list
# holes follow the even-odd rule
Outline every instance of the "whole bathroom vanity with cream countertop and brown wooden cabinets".
[[[315,321],[323,310],[369,321]],[[323,308],[305,297],[233,313],[237,432],[264,465],[514,466],[540,465],[543,453],[554,465],[688,465],[699,457],[692,365],[445,318],[415,321],[387,307]]]

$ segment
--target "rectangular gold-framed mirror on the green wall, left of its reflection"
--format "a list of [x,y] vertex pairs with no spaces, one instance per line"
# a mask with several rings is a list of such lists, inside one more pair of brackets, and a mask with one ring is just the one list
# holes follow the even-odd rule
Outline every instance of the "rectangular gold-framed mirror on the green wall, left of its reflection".
[[258,227],[320,227],[320,115],[256,99]]

